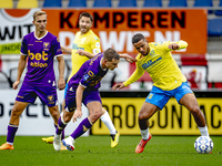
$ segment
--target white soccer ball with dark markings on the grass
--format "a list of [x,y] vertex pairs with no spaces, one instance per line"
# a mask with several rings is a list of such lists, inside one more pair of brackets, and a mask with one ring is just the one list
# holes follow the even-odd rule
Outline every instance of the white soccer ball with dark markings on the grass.
[[194,148],[199,154],[209,154],[213,149],[213,141],[209,136],[199,136]]

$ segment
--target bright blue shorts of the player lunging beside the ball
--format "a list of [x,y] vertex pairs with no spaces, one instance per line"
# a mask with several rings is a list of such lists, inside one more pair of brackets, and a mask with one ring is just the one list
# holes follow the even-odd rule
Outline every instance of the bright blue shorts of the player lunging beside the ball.
[[179,101],[188,93],[193,93],[188,82],[183,82],[179,87],[171,91],[163,91],[153,86],[145,102],[157,105],[162,110],[171,97],[175,97],[180,104]]

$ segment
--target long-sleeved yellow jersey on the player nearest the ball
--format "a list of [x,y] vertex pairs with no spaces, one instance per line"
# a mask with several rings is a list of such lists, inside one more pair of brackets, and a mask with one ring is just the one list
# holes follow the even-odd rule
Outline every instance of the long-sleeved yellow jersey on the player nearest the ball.
[[145,71],[150,74],[153,85],[163,91],[174,90],[180,86],[182,82],[186,82],[185,76],[172,58],[172,50],[168,48],[171,43],[178,43],[180,49],[185,49],[188,46],[188,43],[182,40],[179,42],[167,41],[149,43],[150,53],[143,58],[141,58],[141,53],[137,55],[137,69],[133,74],[123,82],[124,86],[139,80]]

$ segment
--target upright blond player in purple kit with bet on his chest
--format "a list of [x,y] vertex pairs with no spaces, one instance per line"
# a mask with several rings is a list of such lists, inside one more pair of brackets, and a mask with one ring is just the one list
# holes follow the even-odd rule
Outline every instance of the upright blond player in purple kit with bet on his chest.
[[37,96],[48,106],[54,120],[54,125],[58,125],[60,112],[58,107],[53,59],[56,56],[59,62],[59,90],[65,87],[63,76],[64,60],[58,38],[46,30],[47,13],[44,11],[33,13],[33,24],[36,30],[24,35],[21,42],[18,75],[17,81],[13,83],[14,90],[20,84],[26,64],[27,73],[11,112],[7,143],[2,144],[0,149],[13,149],[13,141],[19,127],[20,115],[29,103],[34,103]]

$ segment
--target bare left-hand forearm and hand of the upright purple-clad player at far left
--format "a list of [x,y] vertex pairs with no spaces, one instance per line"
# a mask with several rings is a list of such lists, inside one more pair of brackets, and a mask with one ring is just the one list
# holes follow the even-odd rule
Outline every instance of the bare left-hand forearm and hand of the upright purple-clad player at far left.
[[20,84],[20,79],[21,79],[21,75],[24,71],[26,63],[27,63],[27,55],[21,55],[20,59],[19,59],[19,64],[18,64],[17,81],[12,85],[12,87],[14,90],[17,90],[18,85]]

